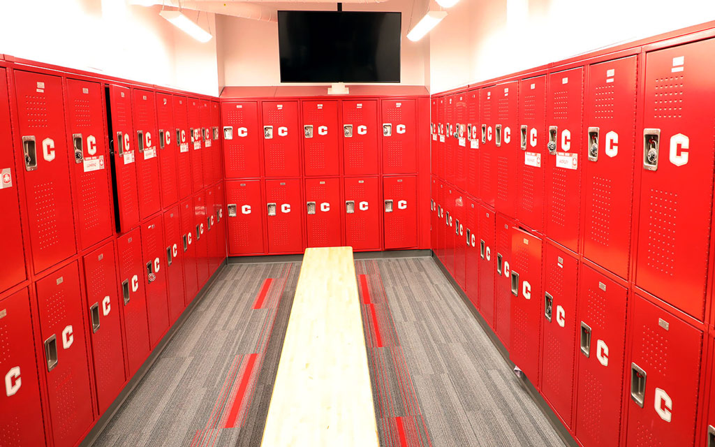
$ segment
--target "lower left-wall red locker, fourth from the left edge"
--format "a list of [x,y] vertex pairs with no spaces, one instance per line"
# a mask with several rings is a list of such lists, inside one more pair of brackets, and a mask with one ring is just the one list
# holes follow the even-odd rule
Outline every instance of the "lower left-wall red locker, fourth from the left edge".
[[124,300],[124,335],[127,338],[129,378],[149,356],[147,295],[144,292],[142,239],[139,228],[117,238],[119,284]]

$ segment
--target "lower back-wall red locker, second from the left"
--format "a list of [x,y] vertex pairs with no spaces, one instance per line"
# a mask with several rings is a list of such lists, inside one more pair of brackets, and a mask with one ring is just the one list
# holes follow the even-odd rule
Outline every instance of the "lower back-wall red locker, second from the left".
[[265,187],[268,252],[302,252],[300,180],[266,180]]

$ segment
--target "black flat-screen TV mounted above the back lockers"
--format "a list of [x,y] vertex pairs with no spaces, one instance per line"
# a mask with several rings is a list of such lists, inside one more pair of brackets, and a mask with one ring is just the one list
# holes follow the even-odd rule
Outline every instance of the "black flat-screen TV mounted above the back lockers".
[[280,80],[400,82],[401,21],[399,12],[278,11]]

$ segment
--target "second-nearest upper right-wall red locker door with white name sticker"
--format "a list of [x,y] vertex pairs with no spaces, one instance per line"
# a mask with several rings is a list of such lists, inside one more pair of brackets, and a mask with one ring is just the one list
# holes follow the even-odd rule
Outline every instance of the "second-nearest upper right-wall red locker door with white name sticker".
[[[519,82],[519,150],[516,164],[516,219],[543,230],[543,162],[546,147],[546,76]],[[516,133],[517,129],[513,132]],[[514,136],[516,138],[516,134]],[[515,143],[516,144],[516,143]]]

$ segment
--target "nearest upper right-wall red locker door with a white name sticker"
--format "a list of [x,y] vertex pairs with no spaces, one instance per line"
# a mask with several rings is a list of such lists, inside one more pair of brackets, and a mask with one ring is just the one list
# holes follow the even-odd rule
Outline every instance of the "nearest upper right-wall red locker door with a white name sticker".
[[[548,162],[544,203],[546,235],[578,251],[581,209],[581,114],[583,67],[552,73],[548,79],[546,124]],[[583,157],[581,157],[583,158]]]

